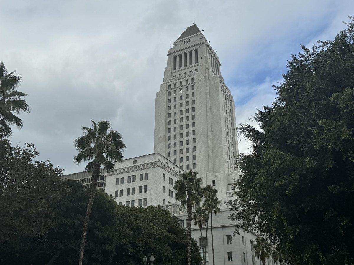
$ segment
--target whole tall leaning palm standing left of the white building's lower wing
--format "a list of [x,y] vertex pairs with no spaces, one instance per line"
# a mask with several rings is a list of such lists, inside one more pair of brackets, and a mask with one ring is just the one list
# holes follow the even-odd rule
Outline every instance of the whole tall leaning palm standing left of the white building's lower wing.
[[86,231],[89,225],[101,166],[107,171],[114,170],[115,165],[112,161],[121,161],[123,159],[122,151],[125,148],[122,136],[117,131],[110,129],[110,123],[107,120],[100,121],[97,124],[93,120],[91,122],[92,128],[82,127],[84,134],[74,142],[76,149],[79,151],[79,154],[74,158],[75,163],[80,164],[82,161],[89,161],[86,170],[92,171],[90,199],[81,235],[79,265],[82,264],[82,257],[84,256]]

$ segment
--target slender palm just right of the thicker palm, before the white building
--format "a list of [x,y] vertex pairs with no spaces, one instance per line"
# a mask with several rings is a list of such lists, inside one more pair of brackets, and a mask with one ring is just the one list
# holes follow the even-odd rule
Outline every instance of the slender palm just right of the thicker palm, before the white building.
[[[206,211],[208,211],[208,220],[210,215],[210,230],[211,230],[211,249],[213,253],[213,265],[215,265],[215,258],[214,258],[214,238],[213,238],[213,213],[216,215],[220,212],[220,208],[218,207],[221,205],[221,202],[217,198],[218,191],[214,189],[210,184],[204,187],[204,197],[205,200],[203,202],[203,207]],[[208,226],[206,227],[206,236],[208,233]],[[205,264],[205,263],[204,263]]]

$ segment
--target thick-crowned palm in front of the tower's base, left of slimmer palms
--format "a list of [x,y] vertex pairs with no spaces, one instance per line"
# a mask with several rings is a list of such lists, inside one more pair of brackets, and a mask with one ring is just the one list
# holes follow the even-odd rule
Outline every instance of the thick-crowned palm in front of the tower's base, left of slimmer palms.
[[179,201],[184,207],[187,205],[187,244],[188,244],[188,265],[190,265],[190,238],[192,238],[192,205],[199,205],[202,198],[202,179],[197,177],[198,172],[193,172],[192,170],[187,173],[181,174],[179,179],[175,181],[173,189],[175,189],[175,199],[176,202]]

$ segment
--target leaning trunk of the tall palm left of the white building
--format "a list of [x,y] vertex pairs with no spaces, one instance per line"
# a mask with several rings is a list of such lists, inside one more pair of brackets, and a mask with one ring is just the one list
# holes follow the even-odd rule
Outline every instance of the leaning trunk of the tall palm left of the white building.
[[87,211],[86,211],[86,216],[85,216],[85,220],[84,220],[84,229],[82,230],[81,242],[80,242],[79,265],[82,265],[82,258],[84,257],[87,226],[89,225],[90,214],[91,214],[91,210],[92,210],[93,200],[95,199],[97,179],[98,179],[100,170],[101,170],[101,167],[99,165],[93,166],[90,200],[89,200],[89,204],[87,205]]

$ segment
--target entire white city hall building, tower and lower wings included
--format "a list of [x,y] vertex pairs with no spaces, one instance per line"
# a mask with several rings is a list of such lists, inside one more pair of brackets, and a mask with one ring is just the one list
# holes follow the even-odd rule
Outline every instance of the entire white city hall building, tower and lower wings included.
[[[156,93],[154,153],[115,162],[114,171],[101,171],[97,188],[129,207],[160,205],[186,227],[187,211],[176,203],[173,185],[181,173],[198,171],[203,185],[214,186],[222,202],[221,213],[213,216],[215,263],[258,265],[261,262],[253,250],[256,234],[242,230],[234,237],[235,226],[227,218],[232,212],[225,202],[236,199],[238,142],[234,99],[220,65],[197,25],[188,27],[167,54],[164,79]],[[90,172],[64,177],[91,187]],[[200,230],[193,222],[192,230],[201,243]],[[206,227],[202,229],[203,236],[205,233]],[[212,262],[210,235],[209,228],[208,264]],[[269,259],[268,264],[278,263]]]

